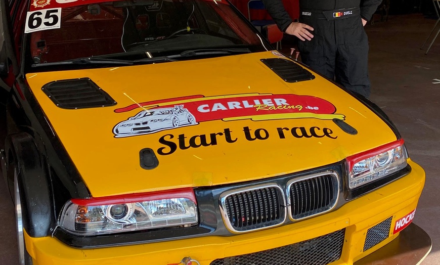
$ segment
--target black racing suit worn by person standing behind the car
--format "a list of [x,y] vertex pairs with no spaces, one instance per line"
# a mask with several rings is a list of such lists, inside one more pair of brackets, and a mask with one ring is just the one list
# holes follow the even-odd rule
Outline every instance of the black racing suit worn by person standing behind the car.
[[[262,0],[278,27],[285,32],[292,23],[281,0]],[[312,26],[311,41],[299,41],[301,60],[347,90],[370,96],[368,38],[361,17],[370,20],[381,0],[299,0],[299,22]],[[322,11],[356,8],[354,16],[328,20]],[[360,9],[359,9],[360,8]],[[313,17],[307,16],[313,14]],[[328,14],[328,12],[327,12]],[[321,15],[317,17],[315,15]],[[333,15],[335,17],[337,15]]]

